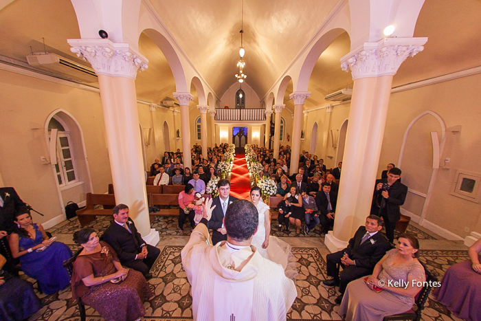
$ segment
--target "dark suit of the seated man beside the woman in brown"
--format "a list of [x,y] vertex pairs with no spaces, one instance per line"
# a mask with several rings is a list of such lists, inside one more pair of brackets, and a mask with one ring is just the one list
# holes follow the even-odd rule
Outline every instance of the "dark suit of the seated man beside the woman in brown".
[[[160,250],[145,243],[131,219],[128,219],[127,225],[132,234],[122,225],[113,221],[109,228],[105,230],[102,238],[115,250],[122,265],[131,267],[145,276],[150,271],[152,265],[154,265]],[[143,260],[135,260],[137,254],[142,252],[142,245],[147,247],[147,257]]]

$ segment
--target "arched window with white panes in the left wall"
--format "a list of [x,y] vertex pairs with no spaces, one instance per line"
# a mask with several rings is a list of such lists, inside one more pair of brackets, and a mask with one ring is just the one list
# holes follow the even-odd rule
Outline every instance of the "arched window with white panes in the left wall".
[[55,164],[55,170],[58,185],[63,187],[74,184],[78,181],[78,178],[76,175],[74,150],[67,125],[63,124],[63,121],[55,115],[48,124],[49,139],[52,139],[50,135],[52,129],[57,130],[54,139],[56,139],[57,164]]

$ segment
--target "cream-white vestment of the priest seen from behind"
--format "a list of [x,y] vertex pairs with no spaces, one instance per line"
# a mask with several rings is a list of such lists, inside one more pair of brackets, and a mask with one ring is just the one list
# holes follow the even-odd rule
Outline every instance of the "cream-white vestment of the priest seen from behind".
[[231,253],[226,241],[210,244],[208,228],[200,223],[181,252],[194,320],[286,320],[297,291],[282,266],[253,245]]

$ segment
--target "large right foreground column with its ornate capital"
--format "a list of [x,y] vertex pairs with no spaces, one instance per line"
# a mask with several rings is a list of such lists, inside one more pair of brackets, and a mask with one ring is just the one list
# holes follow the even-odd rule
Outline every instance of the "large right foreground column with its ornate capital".
[[427,38],[385,38],[364,43],[341,59],[342,69],[351,70],[354,87],[334,231],[326,236],[331,252],[346,245],[370,212],[392,78],[408,56],[424,49],[426,41]]

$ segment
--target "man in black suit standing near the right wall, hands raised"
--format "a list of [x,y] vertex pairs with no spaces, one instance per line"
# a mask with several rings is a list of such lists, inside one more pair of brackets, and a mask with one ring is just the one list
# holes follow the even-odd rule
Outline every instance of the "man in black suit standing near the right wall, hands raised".
[[387,179],[377,179],[372,197],[371,214],[384,219],[385,236],[392,243],[394,241],[394,228],[401,219],[401,205],[407,195],[407,186],[401,184],[399,178],[401,170],[392,168]]

